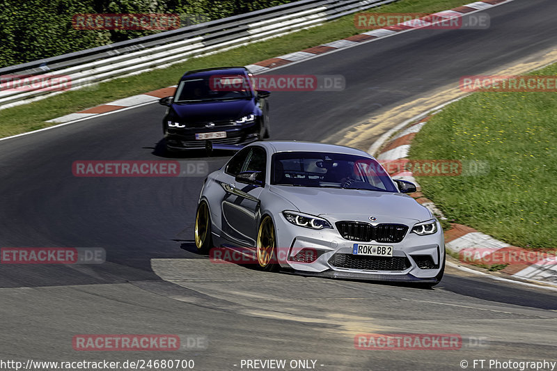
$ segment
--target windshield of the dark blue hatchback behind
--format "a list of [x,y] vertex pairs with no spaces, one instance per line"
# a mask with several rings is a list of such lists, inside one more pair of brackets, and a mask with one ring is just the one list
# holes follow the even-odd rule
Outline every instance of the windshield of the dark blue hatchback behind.
[[251,98],[251,90],[245,85],[237,88],[219,88],[212,83],[213,77],[200,77],[180,81],[175,103],[206,102],[210,100],[240,100]]

